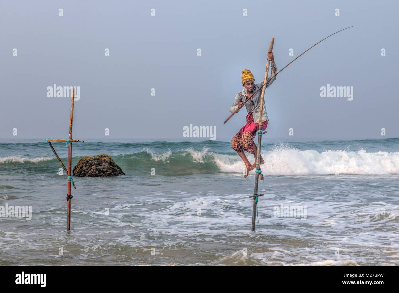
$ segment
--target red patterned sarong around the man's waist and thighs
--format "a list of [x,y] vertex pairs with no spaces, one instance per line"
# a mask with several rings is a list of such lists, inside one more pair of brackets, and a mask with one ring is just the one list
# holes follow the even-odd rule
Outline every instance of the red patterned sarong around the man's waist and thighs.
[[[267,128],[267,122],[269,122],[269,120],[263,122],[263,130]],[[245,124],[243,128],[241,128],[240,131],[233,137],[231,140],[231,148],[241,153],[243,151],[253,153],[251,145],[253,144],[253,139],[255,138],[256,132],[258,130],[259,123],[255,124],[253,122],[252,113],[249,112],[247,115],[247,124]]]

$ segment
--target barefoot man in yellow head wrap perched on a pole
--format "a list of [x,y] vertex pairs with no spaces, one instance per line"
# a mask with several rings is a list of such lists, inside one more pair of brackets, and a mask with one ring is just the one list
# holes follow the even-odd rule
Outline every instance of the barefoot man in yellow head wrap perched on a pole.
[[[270,57],[272,69],[271,69],[271,76],[268,79],[271,79],[275,76],[277,72],[276,63],[274,61],[273,52],[267,53],[267,56]],[[275,81],[276,77],[271,79],[267,82],[266,88]],[[247,124],[245,124],[240,131],[233,137],[231,140],[231,148],[237,151],[238,155],[243,159],[245,163],[245,175],[244,178],[247,178],[249,171],[256,167],[256,156],[257,156],[257,146],[253,142],[255,138],[256,132],[259,130],[259,110],[261,106],[261,90],[257,93],[253,94],[259,87],[263,86],[263,81],[261,83],[254,84],[255,78],[253,77],[251,71],[248,69],[244,69],[241,72],[241,83],[243,85],[243,90],[239,92],[235,96],[235,100],[233,106],[230,108],[230,112],[233,113],[235,110],[240,109],[247,98],[251,98],[248,102],[245,103],[247,108]],[[237,110],[239,112],[239,110]],[[263,114],[262,114],[262,129],[265,130],[267,127],[267,123],[269,122],[269,118],[267,118],[266,114],[266,106],[265,102],[263,102]],[[244,151],[248,153],[253,153],[255,157],[255,163],[251,165],[249,163],[247,156],[245,155]],[[264,164],[263,158],[261,156],[260,164]],[[263,176],[259,174],[261,177],[260,179],[263,180]]]

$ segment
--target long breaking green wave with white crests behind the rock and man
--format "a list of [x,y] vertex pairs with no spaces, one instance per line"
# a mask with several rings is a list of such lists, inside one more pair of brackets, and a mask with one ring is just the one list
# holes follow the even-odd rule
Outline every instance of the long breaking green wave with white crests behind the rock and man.
[[[167,148],[159,151],[144,147],[135,153],[114,156],[114,161],[127,173],[142,173],[148,168],[158,169],[159,175],[176,176],[192,174],[233,173],[243,174],[245,165],[232,151],[216,152],[210,147],[180,150]],[[245,153],[253,163],[253,154]],[[286,144],[275,145],[262,151],[265,175],[393,175],[399,174],[399,152],[367,152],[349,150],[300,150]],[[77,159],[79,157],[74,157]],[[24,156],[1,157],[0,163],[43,163],[53,157],[28,158]],[[47,163],[46,163],[47,164]],[[126,172],[125,172],[126,173]],[[250,172],[255,174],[255,170]]]

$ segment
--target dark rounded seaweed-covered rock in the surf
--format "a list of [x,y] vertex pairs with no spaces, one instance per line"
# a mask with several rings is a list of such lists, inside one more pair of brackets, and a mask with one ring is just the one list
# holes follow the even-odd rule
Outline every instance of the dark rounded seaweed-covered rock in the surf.
[[73,167],[73,176],[77,177],[112,177],[125,175],[109,155],[85,156]]

